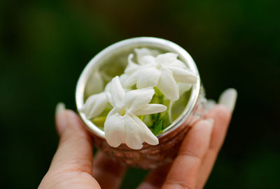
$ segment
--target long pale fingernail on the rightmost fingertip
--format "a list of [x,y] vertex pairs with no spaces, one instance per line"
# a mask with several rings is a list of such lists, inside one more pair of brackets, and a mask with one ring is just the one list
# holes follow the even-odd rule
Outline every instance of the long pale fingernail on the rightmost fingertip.
[[218,104],[225,105],[230,109],[230,111],[233,111],[235,109],[235,103],[237,100],[237,90],[235,89],[227,89],[223,91],[221,94]]

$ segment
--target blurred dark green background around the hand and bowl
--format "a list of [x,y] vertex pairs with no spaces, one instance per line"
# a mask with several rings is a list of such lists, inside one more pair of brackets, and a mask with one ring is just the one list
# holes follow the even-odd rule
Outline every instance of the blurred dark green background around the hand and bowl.
[[[36,188],[58,137],[55,105],[75,109],[87,62],[126,38],[185,48],[208,98],[239,92],[205,188],[280,188],[279,1],[0,1],[0,188]],[[130,169],[122,188],[146,171]]]

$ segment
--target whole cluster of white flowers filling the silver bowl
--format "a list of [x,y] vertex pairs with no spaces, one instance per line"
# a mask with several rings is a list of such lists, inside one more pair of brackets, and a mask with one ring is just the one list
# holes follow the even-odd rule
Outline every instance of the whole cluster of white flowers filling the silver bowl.
[[[190,89],[197,82],[197,76],[185,63],[178,59],[178,54],[168,52],[159,54],[147,48],[135,49],[134,55],[128,56],[127,68],[120,77],[109,82],[102,93],[87,98],[80,109],[87,119],[99,116],[110,103],[113,107],[106,116],[104,133],[110,146],[118,147],[125,143],[131,149],[141,149],[143,143],[158,144],[158,138],[151,132],[139,116],[165,112],[162,104],[149,104],[155,94],[155,87],[174,102],[181,91]],[[133,86],[137,89],[132,89]],[[182,89],[183,86],[183,89]]]

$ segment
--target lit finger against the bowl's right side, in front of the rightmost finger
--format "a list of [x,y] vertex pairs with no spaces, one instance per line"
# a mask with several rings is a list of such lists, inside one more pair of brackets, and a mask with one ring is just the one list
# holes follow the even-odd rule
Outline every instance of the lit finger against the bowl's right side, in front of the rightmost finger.
[[162,188],[195,188],[202,159],[209,149],[212,128],[212,119],[198,121],[190,128]]

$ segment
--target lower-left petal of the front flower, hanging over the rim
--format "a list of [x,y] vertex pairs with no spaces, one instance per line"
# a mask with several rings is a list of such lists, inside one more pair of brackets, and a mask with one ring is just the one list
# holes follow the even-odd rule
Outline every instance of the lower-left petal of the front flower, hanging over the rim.
[[104,123],[105,138],[110,146],[118,147],[125,141],[125,124],[124,116],[120,116],[113,108]]

